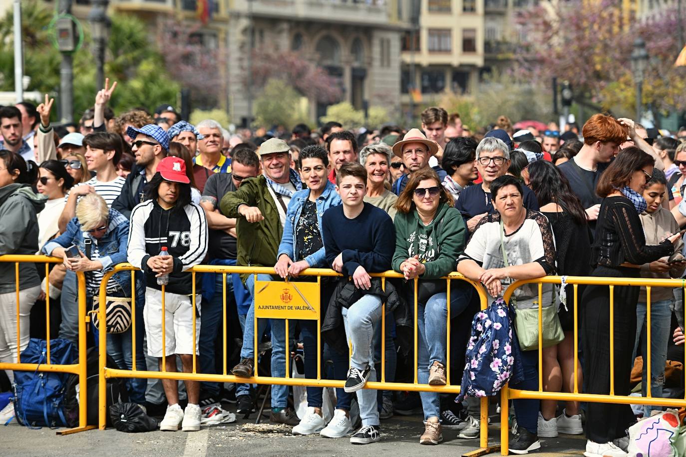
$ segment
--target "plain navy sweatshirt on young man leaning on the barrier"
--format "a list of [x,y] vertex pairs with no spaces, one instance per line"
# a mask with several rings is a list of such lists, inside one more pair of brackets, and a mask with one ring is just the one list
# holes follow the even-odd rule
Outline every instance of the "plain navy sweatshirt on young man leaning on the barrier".
[[327,267],[343,253],[344,275],[351,276],[362,265],[367,273],[391,269],[395,251],[395,227],[388,213],[370,203],[355,219],[343,214],[343,206],[333,206],[322,216],[322,237]]

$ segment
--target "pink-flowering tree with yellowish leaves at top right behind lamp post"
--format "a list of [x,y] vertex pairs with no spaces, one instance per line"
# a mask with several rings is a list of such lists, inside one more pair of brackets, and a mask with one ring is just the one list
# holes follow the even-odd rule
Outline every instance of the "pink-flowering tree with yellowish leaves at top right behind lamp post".
[[686,103],[685,70],[673,66],[681,50],[674,8],[624,21],[614,0],[543,2],[521,12],[518,23],[526,37],[517,53],[518,77],[541,87],[552,77],[566,79],[578,101],[635,110],[631,53],[640,36],[650,55],[643,104],[667,111]]

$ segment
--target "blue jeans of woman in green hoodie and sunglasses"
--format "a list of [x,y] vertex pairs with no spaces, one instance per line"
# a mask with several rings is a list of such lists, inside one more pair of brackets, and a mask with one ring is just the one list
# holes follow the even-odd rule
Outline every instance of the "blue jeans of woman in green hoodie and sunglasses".
[[[446,365],[447,352],[447,308],[448,295],[445,292],[431,295],[426,304],[417,305],[417,381],[429,383],[429,368],[434,362]],[[450,294],[450,316],[457,317],[469,305],[471,289],[453,288]],[[420,392],[424,419],[440,417],[440,398],[436,392]]]

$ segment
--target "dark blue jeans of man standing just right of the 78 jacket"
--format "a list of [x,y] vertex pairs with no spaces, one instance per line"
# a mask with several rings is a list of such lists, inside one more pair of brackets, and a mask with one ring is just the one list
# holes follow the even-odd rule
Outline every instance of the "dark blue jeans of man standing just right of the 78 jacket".
[[[224,324],[224,280],[222,275],[215,275],[215,293],[209,300],[202,303],[202,321],[200,321],[200,373],[216,374],[215,369],[215,341],[217,330]],[[233,282],[230,275],[226,275],[226,301],[233,296]],[[222,357],[224,354],[222,354]],[[203,382],[201,397],[217,397],[220,393],[219,382]]]

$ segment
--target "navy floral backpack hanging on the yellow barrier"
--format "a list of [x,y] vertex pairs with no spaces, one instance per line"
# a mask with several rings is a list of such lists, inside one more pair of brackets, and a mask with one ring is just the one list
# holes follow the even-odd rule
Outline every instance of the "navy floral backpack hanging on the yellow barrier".
[[462,402],[465,396],[491,397],[507,382],[523,379],[519,357],[521,349],[514,336],[512,314],[502,298],[475,314],[466,350],[462,388],[456,402]]

